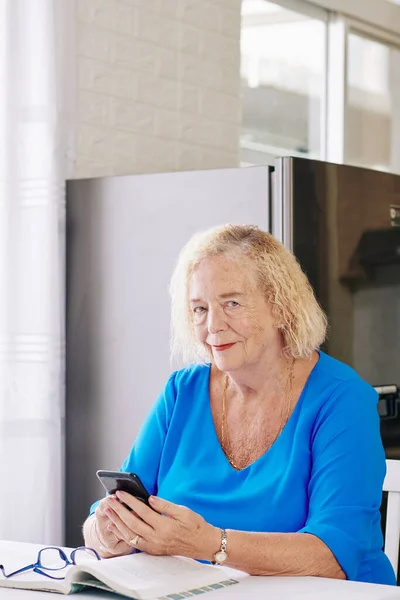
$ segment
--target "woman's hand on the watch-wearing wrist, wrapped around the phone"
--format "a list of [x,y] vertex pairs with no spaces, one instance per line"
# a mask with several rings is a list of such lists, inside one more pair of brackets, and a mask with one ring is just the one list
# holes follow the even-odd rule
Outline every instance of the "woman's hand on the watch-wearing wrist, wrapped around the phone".
[[[155,555],[179,555],[212,560],[221,532],[185,506],[150,496],[151,508],[126,492],[107,498],[106,513],[118,534],[138,550]],[[123,502],[132,509],[129,511]],[[153,510],[154,509],[154,510]],[[139,536],[139,537],[137,537]]]

